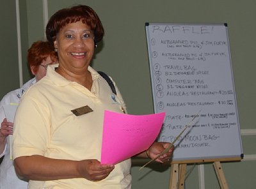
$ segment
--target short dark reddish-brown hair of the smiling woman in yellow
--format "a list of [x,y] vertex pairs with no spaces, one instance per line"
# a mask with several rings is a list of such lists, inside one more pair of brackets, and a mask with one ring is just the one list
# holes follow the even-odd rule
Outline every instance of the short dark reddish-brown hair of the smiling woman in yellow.
[[56,40],[56,35],[62,27],[78,21],[82,21],[90,27],[94,34],[95,43],[102,40],[104,28],[97,13],[89,6],[81,4],[72,6],[71,8],[63,8],[52,15],[46,26],[45,33],[47,40],[53,45],[53,42]]

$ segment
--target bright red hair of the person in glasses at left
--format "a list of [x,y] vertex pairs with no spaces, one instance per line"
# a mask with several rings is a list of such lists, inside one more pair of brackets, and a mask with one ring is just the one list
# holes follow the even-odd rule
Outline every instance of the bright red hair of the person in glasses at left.
[[54,52],[54,47],[49,42],[37,41],[34,42],[28,49],[27,60],[28,66],[34,66],[34,72],[38,70],[38,66],[42,61],[46,60],[50,56],[52,61],[58,61],[58,55]]

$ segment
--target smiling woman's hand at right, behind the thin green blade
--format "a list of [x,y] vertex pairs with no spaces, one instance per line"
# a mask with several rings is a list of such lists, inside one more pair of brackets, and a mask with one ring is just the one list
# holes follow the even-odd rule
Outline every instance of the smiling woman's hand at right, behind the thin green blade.
[[[149,158],[154,159],[170,145],[170,142],[154,142],[145,152],[147,153]],[[173,150],[174,147],[172,146],[166,153],[159,156],[159,158],[156,159],[156,162],[163,163],[169,161],[172,157]]]

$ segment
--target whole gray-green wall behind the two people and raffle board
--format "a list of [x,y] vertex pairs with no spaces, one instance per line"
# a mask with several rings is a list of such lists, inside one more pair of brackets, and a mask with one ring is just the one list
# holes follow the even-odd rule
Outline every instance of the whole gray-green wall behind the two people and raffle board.
[[[11,89],[19,87],[16,21],[13,13],[10,13],[10,11],[15,12],[15,1],[5,1],[5,4],[10,9],[7,10],[3,6],[0,8],[1,15],[4,14],[2,17],[6,18],[2,20],[3,28],[6,29],[0,30],[1,96]],[[49,0],[49,17],[56,10],[72,4],[91,6],[102,20],[106,35],[97,48],[92,65],[96,70],[102,70],[113,77],[124,96],[129,114],[154,112],[145,22],[227,23],[241,129],[256,129],[253,119],[256,107],[255,1]],[[22,33],[22,44],[24,45],[22,52],[35,40],[44,38],[42,1],[27,0],[26,12],[28,28],[22,30],[24,32]],[[26,23],[26,21],[24,22]],[[26,30],[28,31],[27,35]],[[25,70],[23,72],[24,75],[27,75]],[[256,154],[255,136],[243,136],[242,140],[244,154]],[[255,188],[255,161],[228,162],[222,163],[222,165],[230,188]],[[204,167],[205,188],[218,188],[218,180],[212,164],[207,163]],[[131,169],[132,188],[168,188],[170,167],[154,164],[140,171],[139,168],[133,166]],[[190,172],[186,179],[186,189],[199,188],[197,168],[197,165],[188,166]]]

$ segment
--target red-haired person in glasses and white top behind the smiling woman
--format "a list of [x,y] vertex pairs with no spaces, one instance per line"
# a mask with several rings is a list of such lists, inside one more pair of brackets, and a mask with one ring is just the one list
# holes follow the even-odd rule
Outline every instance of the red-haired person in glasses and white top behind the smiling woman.
[[[4,114],[4,105],[10,103],[19,103],[21,96],[28,90],[30,86],[42,79],[49,64],[58,62],[58,56],[54,52],[54,48],[49,42],[37,41],[28,49],[28,66],[35,77],[20,89],[15,89],[7,93],[0,102],[0,158],[3,162],[0,165],[0,189],[25,189],[28,188],[28,181],[18,178],[13,167],[13,161],[10,158],[10,135],[13,134],[13,123],[8,122]],[[26,137],[26,136],[24,136]]]

